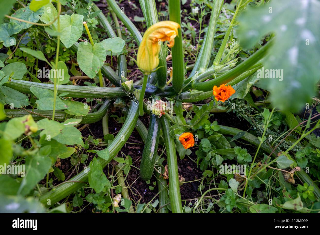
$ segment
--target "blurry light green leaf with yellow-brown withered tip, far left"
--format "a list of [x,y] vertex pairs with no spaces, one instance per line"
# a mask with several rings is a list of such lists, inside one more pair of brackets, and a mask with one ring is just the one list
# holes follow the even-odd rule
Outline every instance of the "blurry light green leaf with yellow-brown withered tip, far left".
[[23,117],[12,118],[7,122],[4,129],[4,137],[6,139],[14,140],[20,137],[23,133],[30,135],[36,132],[38,126],[33,120],[31,114]]

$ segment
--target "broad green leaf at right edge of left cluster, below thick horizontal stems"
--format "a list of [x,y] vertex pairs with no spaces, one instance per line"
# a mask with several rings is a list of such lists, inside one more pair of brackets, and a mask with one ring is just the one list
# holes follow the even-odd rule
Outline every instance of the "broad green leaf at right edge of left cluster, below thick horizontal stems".
[[61,130],[61,133],[54,137],[55,140],[65,145],[84,145],[81,132],[73,126],[67,126]]

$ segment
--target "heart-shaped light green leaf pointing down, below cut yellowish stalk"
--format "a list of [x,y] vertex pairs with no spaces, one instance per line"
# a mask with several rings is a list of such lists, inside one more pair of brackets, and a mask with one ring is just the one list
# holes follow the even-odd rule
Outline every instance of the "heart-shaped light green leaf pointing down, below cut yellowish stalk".
[[90,78],[94,78],[107,58],[103,43],[79,43],[77,60],[81,70]]

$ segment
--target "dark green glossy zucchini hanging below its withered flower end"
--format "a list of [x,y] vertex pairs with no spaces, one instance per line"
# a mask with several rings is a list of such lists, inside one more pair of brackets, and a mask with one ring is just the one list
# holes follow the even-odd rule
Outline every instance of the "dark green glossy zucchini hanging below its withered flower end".
[[147,181],[151,178],[153,168],[155,166],[159,143],[160,126],[160,118],[157,115],[152,114],[150,116],[147,140],[144,145],[140,162],[140,176],[144,181]]

